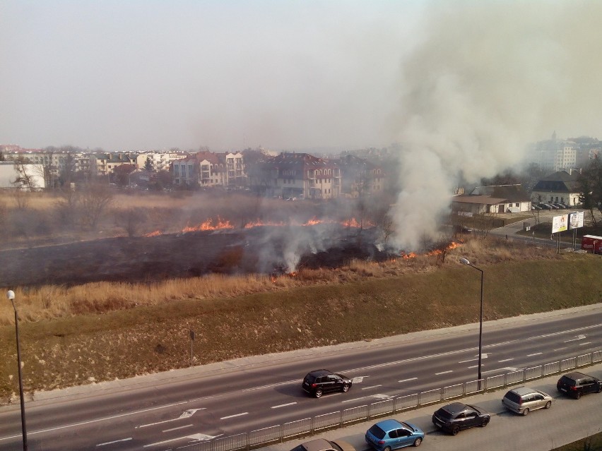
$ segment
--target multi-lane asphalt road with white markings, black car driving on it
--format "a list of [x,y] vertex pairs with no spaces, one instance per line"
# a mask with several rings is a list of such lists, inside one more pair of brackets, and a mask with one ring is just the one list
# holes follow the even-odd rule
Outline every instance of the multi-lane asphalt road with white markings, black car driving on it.
[[[483,376],[602,349],[602,304],[485,323]],[[29,450],[177,450],[199,440],[475,380],[478,325],[242,359],[97,385],[25,404]],[[307,371],[354,379],[346,394],[307,397]],[[80,390],[81,391],[81,390]],[[0,451],[21,447],[18,404],[0,409]]]

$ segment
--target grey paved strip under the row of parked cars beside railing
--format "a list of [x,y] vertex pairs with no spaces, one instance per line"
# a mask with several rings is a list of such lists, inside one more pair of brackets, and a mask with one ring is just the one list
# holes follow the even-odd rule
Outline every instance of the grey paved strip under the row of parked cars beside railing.
[[[580,368],[579,371],[602,378],[602,363]],[[565,371],[563,373],[569,373]],[[364,435],[372,424],[382,419],[394,418],[409,421],[425,431],[425,439],[420,445],[425,450],[487,450],[507,451],[512,449],[528,449],[529,451],[548,451],[556,447],[572,443],[589,435],[602,432],[602,395],[596,393],[586,395],[579,400],[560,395],[556,390],[556,382],[560,375],[532,380],[529,383],[512,385],[518,387],[528,385],[547,392],[555,400],[550,410],[537,410],[523,417],[513,414],[502,406],[502,397],[509,390],[505,387],[495,392],[473,395],[462,399],[454,399],[444,403],[429,404],[427,407],[403,411],[377,419],[355,423],[346,428],[334,429],[311,437],[290,440],[262,448],[265,451],[288,451],[300,443],[314,438],[328,440],[345,440],[356,450],[369,450]],[[486,428],[472,428],[461,431],[455,437],[443,433],[432,424],[432,413],[449,402],[477,404],[491,414],[491,421]],[[410,448],[408,448],[410,449]]]

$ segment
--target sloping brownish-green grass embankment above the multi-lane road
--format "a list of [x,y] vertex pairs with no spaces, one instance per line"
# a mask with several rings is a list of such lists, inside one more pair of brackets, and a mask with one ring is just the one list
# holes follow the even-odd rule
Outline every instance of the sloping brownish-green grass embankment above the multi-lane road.
[[[498,247],[491,251],[481,242],[469,241],[461,255],[485,270],[485,320],[602,300],[597,256],[528,248],[521,248],[522,254],[503,241],[495,241]],[[454,251],[444,264],[425,256],[388,265],[355,263],[298,279],[281,277],[276,283],[249,277],[244,287],[228,279],[219,287],[203,288],[203,282],[218,280],[212,278],[129,286],[120,296],[148,301],[135,308],[117,303],[112,308],[118,310],[105,306],[96,310],[104,313],[94,314],[93,302],[76,302],[75,296],[80,310],[70,311],[66,303],[52,319],[40,319],[45,309],[35,306],[34,296],[23,305],[30,320],[20,325],[25,390],[187,367],[189,330],[196,332],[195,364],[203,364],[473,323],[478,320],[480,277],[458,263],[459,255]],[[101,284],[93,290],[100,299],[103,289],[110,298],[124,288]],[[69,290],[64,294],[73,296]],[[81,311],[86,313],[76,314]],[[15,349],[14,327],[5,323],[0,327],[2,402],[16,399],[18,392]]]

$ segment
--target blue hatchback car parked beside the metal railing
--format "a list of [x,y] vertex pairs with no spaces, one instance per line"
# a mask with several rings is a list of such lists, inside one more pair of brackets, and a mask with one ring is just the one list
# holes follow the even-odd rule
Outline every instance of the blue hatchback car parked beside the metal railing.
[[391,451],[406,446],[420,446],[425,433],[412,423],[384,420],[366,432],[366,443],[377,451]]

